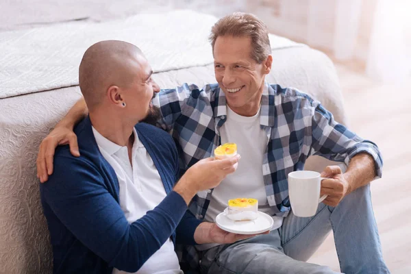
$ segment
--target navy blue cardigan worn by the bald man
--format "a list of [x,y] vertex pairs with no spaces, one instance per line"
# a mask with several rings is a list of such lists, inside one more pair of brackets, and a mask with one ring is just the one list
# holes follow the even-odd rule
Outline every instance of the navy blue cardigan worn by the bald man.
[[169,134],[145,123],[138,138],[160,173],[167,196],[132,224],[119,205],[116,173],[101,155],[90,118],[75,128],[79,158],[69,146],[58,147],[53,175],[40,184],[42,207],[53,246],[54,273],[135,272],[170,238],[195,245],[200,221],[173,191],[178,179],[178,154]]

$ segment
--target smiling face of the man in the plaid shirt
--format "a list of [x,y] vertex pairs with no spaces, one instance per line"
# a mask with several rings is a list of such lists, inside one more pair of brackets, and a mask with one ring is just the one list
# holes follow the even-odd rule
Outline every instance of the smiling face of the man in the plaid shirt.
[[214,44],[216,80],[237,114],[253,116],[260,108],[265,75],[271,70],[269,55],[259,64],[251,58],[251,38],[219,36]]

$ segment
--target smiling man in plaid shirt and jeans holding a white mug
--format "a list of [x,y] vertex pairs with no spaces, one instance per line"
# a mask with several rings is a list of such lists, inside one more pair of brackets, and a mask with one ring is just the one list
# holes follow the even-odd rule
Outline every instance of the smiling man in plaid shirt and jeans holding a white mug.
[[[264,81],[273,57],[266,26],[252,14],[221,18],[210,36],[218,84],[184,84],[162,90],[158,126],[172,132],[179,146],[182,173],[210,157],[224,142],[236,142],[242,160],[236,173],[209,191],[197,192],[190,210],[214,222],[236,197],[258,199],[274,221],[271,232],[225,245],[189,246],[190,266],[202,273],[334,273],[306,262],[332,230],[344,273],[389,273],[379,243],[369,183],[382,176],[377,146],[334,120],[332,113],[294,88]],[[77,112],[77,116],[75,115]],[[42,142],[38,175],[50,173],[53,151],[86,110],[79,102]],[[79,114],[78,114],[79,113]],[[67,126],[69,125],[69,126]],[[75,150],[76,143],[70,140]],[[52,153],[49,153],[52,155]],[[345,162],[347,171],[327,166],[316,214],[292,213],[287,175],[302,170],[310,155]]]

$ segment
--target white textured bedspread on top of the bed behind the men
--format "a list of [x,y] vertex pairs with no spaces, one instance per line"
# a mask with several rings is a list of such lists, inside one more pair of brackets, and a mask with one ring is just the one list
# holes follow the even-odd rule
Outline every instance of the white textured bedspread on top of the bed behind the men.
[[[145,53],[153,71],[212,64],[208,36],[217,18],[190,10],[138,14],[105,23],[66,23],[0,33],[0,98],[75,86],[84,51],[124,40]],[[302,46],[270,35],[273,49]]]

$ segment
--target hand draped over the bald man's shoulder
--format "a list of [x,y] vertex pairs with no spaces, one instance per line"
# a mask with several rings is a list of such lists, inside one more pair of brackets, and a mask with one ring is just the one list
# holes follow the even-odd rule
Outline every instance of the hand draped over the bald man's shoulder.
[[79,146],[77,136],[73,128],[58,126],[53,129],[47,137],[42,140],[37,155],[37,177],[44,183],[53,173],[53,156],[58,145],[70,145],[70,152],[75,157],[79,157]]

